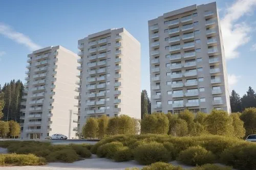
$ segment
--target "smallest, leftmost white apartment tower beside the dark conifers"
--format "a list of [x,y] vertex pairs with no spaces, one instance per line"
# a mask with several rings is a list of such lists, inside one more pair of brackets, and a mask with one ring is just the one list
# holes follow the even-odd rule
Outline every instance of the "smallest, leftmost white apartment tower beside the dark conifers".
[[49,46],[28,55],[26,89],[21,104],[23,139],[44,139],[54,133],[75,137],[77,103],[74,91],[76,54],[62,46]]

